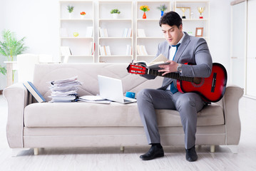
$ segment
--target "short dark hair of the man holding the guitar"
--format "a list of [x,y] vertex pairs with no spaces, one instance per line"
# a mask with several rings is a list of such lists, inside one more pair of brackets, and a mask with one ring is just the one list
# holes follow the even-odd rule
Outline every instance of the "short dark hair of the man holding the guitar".
[[183,24],[180,15],[177,14],[175,11],[170,11],[168,13],[164,13],[163,16],[160,18],[159,26],[162,24],[168,24],[169,26],[177,26],[180,27],[180,24]]

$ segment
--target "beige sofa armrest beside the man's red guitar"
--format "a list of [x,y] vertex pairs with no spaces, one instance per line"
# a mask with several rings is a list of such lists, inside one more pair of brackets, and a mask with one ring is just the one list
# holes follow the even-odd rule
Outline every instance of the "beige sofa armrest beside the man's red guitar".
[[241,122],[239,117],[239,100],[244,93],[243,88],[227,86],[223,97],[227,145],[238,145],[241,133]]

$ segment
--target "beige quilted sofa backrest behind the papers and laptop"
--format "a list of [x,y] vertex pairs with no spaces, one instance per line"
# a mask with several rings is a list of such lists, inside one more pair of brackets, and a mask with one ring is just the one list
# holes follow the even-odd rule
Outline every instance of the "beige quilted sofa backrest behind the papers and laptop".
[[123,93],[131,91],[138,93],[143,88],[159,88],[163,78],[147,80],[141,76],[130,74],[126,68],[128,63],[47,63],[36,64],[34,69],[34,86],[46,100],[51,100],[51,81],[78,76],[78,81],[83,84],[79,86],[78,95],[97,95],[98,75],[118,78],[123,83]]

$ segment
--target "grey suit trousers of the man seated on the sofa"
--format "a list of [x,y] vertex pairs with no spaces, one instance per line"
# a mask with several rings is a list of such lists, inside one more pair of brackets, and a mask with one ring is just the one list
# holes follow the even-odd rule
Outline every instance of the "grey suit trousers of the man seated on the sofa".
[[171,93],[170,90],[144,89],[137,95],[138,111],[148,144],[160,143],[155,109],[172,109],[180,113],[185,133],[185,148],[195,145],[197,113],[205,105],[196,93]]

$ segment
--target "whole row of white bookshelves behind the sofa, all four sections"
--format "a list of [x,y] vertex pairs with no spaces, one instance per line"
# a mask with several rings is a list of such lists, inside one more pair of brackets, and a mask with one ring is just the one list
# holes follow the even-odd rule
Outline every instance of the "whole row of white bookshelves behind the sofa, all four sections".
[[[172,9],[173,3],[173,9]],[[180,16],[183,12],[178,7],[190,7],[183,19],[183,31],[195,36],[195,28],[203,28],[203,38],[209,40],[209,2],[208,1],[59,1],[60,47],[68,46],[72,55],[68,62],[130,62],[132,59],[152,61],[158,50],[158,43],[165,41],[159,26],[160,10],[158,6],[165,4],[168,11],[176,11]],[[73,16],[69,18],[67,6],[74,6]],[[140,6],[147,5],[147,19],[143,19]],[[94,11],[98,7],[98,14]],[[199,19],[198,6],[205,7],[203,19]],[[112,9],[119,9],[118,19],[111,16]],[[85,11],[85,18],[81,19],[80,12]],[[134,11],[134,12],[133,12]],[[191,15],[191,12],[193,15]],[[86,35],[88,27],[92,27],[92,36]],[[100,29],[106,29],[108,36],[101,36]],[[131,28],[131,36],[123,37],[124,28]],[[138,35],[138,29],[143,29],[145,36]],[[63,34],[63,32],[66,32]],[[78,32],[79,36],[73,36]],[[91,45],[95,51],[91,54]],[[138,54],[138,46],[145,46],[147,55]],[[100,46],[108,46],[111,54],[103,54]],[[127,52],[127,46],[130,51]],[[61,56],[59,61],[63,61]]]

